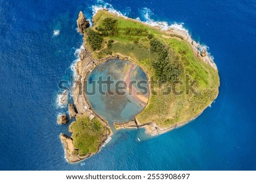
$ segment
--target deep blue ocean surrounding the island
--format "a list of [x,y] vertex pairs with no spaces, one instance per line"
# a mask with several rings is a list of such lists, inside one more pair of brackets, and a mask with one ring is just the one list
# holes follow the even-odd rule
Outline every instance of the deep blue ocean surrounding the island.
[[[105,1],[131,18],[184,23],[209,46],[221,78],[217,100],[180,129],[138,142],[123,130],[85,165],[68,164],[56,123],[58,82],[82,44],[79,11],[96,1],[0,0],[1,170],[256,170],[256,2]],[[108,5],[108,7],[110,6]],[[59,30],[59,35],[53,35]]]

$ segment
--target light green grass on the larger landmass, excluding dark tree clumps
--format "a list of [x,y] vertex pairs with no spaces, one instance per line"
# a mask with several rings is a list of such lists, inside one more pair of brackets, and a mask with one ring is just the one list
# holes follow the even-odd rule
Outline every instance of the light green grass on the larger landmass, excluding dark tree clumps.
[[[174,94],[163,96],[160,94],[161,89],[155,87],[154,89],[157,90],[158,94],[156,96],[150,95],[148,105],[137,115],[139,123],[155,122],[162,127],[182,123],[196,117],[216,98],[220,85],[218,72],[209,64],[197,58],[193,54],[191,46],[185,40],[173,35],[171,38],[166,38],[168,35],[164,32],[132,19],[115,16],[107,11],[98,11],[94,16],[93,29],[102,26],[102,20],[107,17],[118,20],[119,34],[105,37],[100,51],[93,53],[94,57],[102,58],[107,56],[109,52],[130,56],[136,64],[148,72],[149,77],[153,76],[154,68],[152,68],[151,62],[154,60],[154,55],[150,52],[150,40],[145,35],[125,34],[126,28],[144,28],[146,34],[154,35],[154,38],[168,46],[171,56],[179,56],[179,61],[183,65],[182,81],[184,81],[185,75],[189,75],[191,80],[197,80],[196,90],[200,93],[198,95],[190,92],[181,96],[175,96]],[[106,48],[109,39],[114,40],[112,48]],[[139,43],[134,43],[135,40]],[[163,88],[165,86],[167,85],[163,85]],[[184,90],[184,85],[178,89]]]

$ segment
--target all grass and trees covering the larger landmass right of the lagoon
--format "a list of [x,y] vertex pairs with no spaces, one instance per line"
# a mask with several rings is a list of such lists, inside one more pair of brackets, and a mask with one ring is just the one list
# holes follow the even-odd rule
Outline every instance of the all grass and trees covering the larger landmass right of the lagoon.
[[[97,37],[104,39],[101,47],[96,48],[89,43],[93,50],[101,48],[93,53],[96,59],[110,54],[129,56],[147,72],[148,77],[167,81],[162,82],[161,88],[154,85],[156,94],[150,94],[146,108],[137,115],[139,123],[155,122],[158,126],[170,127],[196,117],[217,97],[220,85],[218,72],[196,57],[182,36],[159,31],[108,11],[98,11],[93,22],[92,29],[98,32]],[[90,35],[86,32],[85,36]],[[185,84],[179,84],[175,90],[183,94],[163,95],[174,81],[185,83],[186,75],[189,83],[196,80],[193,88],[197,94],[185,94]]]

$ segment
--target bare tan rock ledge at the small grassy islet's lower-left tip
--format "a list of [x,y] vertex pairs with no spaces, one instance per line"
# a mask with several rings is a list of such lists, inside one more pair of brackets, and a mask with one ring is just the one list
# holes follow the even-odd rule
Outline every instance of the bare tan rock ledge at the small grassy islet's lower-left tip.
[[61,143],[65,149],[65,156],[69,163],[79,162],[82,159],[88,158],[89,155],[80,156],[79,151],[73,146],[73,140],[67,135],[60,134]]

